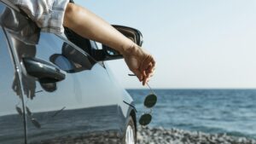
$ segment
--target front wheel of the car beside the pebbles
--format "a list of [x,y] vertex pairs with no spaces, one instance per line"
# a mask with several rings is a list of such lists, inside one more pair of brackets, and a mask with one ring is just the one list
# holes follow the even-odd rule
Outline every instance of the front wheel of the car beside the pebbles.
[[129,117],[129,122],[125,128],[125,135],[123,137],[123,144],[136,144],[137,134],[136,128],[132,117]]

